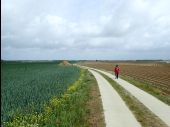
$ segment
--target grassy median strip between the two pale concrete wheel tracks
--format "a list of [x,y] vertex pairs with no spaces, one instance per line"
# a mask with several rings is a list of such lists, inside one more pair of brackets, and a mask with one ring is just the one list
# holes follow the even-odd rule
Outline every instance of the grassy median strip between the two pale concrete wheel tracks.
[[[100,73],[100,72],[99,72]],[[129,109],[133,112],[138,122],[142,127],[167,127],[167,125],[154,115],[146,106],[132,96],[127,90],[117,84],[108,76],[100,73],[118,92],[121,98],[124,100]]]

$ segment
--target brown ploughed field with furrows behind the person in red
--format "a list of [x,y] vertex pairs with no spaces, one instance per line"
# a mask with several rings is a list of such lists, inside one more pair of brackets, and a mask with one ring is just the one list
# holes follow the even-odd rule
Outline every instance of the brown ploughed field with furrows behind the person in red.
[[149,83],[170,96],[170,64],[135,61],[85,61],[81,65],[112,71],[116,64],[121,68],[121,75]]

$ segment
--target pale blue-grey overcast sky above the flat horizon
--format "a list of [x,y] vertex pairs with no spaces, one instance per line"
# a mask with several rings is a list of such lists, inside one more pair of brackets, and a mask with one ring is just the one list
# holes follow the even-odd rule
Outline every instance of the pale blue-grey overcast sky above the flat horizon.
[[170,0],[1,0],[1,59],[170,59]]

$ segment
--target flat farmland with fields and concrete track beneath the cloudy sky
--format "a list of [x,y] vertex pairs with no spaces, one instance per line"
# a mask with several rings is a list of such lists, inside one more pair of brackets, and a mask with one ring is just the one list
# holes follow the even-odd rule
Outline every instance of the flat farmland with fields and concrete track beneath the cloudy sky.
[[[117,64],[122,79],[116,80]],[[1,68],[1,125],[5,127],[170,125],[168,63],[1,61]]]

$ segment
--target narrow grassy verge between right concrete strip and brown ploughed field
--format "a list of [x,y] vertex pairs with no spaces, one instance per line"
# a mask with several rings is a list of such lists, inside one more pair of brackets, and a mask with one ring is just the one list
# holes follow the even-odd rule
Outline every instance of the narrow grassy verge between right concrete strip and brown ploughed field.
[[163,101],[164,103],[170,105],[170,95],[165,94],[159,88],[156,88],[148,83],[141,83],[133,78],[127,76],[121,76],[122,79],[128,81],[129,83],[137,86],[138,88],[148,92],[149,94],[155,96],[159,100]]

